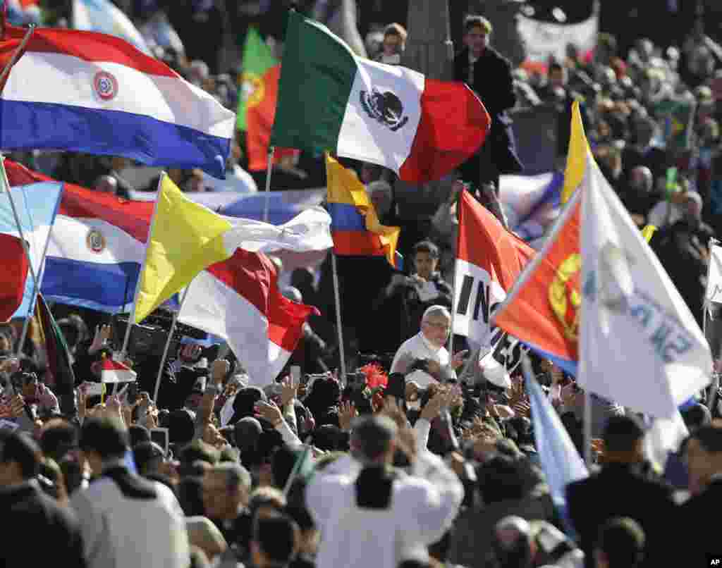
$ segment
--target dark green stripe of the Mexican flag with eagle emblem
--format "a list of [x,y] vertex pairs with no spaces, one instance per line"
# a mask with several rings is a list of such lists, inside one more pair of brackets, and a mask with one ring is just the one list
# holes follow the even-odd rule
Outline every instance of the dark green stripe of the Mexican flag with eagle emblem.
[[329,30],[288,14],[271,146],[335,150],[356,77],[356,58]]

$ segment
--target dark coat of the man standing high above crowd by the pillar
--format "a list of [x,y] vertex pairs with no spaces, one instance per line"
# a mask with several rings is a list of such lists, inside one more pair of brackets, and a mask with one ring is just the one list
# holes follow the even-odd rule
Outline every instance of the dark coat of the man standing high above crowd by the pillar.
[[[469,49],[454,58],[454,79],[469,82]],[[516,93],[511,76],[511,64],[493,48],[487,47],[474,64],[474,84],[469,85],[484,103],[491,119],[491,131],[484,145],[490,146],[487,160],[500,174],[518,173],[523,166],[516,154],[511,119],[506,110],[516,105]],[[482,153],[483,157],[483,153]]]

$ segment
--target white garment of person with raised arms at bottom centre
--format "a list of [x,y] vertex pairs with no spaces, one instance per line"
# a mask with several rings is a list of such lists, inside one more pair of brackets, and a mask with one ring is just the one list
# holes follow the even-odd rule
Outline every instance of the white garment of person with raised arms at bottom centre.
[[425,547],[448,530],[464,499],[456,473],[438,456],[422,453],[413,475],[393,481],[388,509],[359,509],[360,467],[342,460],[343,466],[316,474],[306,490],[308,510],[321,530],[316,566],[397,568],[406,559],[424,562]]

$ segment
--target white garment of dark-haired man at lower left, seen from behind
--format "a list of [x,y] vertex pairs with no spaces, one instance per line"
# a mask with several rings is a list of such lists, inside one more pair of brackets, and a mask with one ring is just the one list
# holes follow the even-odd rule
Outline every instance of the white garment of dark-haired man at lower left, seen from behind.
[[110,478],[71,498],[88,568],[188,568],[186,520],[173,491],[152,482],[157,498],[129,499]]

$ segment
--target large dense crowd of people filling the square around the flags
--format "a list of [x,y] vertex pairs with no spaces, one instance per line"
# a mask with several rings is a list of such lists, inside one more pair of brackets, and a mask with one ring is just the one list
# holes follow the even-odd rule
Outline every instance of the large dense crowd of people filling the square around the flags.
[[[27,17],[69,25],[70,2],[41,4],[42,12]],[[238,9],[211,0],[116,4],[155,56],[235,110],[241,70],[222,67],[230,61],[225,34],[245,31],[270,2],[238,2]],[[396,65],[419,30],[407,32],[393,16],[370,26],[363,48]],[[264,21],[276,30],[274,19]],[[524,172],[514,114],[554,108],[554,167],[563,171],[574,101],[582,103],[596,162],[640,230],[656,229],[651,246],[701,325],[709,244],[722,229],[722,48],[705,35],[700,17],[677,47],[638,38],[625,53],[619,38],[600,33],[593,53],[569,45],[563,60],[513,66],[494,48],[494,24],[483,14],[464,20],[454,79],[477,92],[492,129],[458,179],[448,180],[435,214],[402,216],[391,172],[344,160],[367,186],[380,221],[401,227],[406,258],[405,271],[383,258],[338,259],[346,372],[330,257],[282,272],[284,295],[321,315],[310,317],[287,366],[264,388],[243,369],[242,354],[189,339],[165,361],[155,400],[161,354],[133,346],[137,382],[99,389],[118,327],[108,314],[57,304],[53,313],[77,379],[72,393],[60,393],[35,317],[19,358],[22,320],[0,325],[5,565],[719,562],[705,510],[713,513],[722,490],[722,389],[705,390],[682,408],[689,435],[659,463],[647,451],[645,416],[585,398],[575,377],[532,354],[535,379],[580,455],[591,445],[590,476],[567,486],[562,507],[539,458],[521,372],[485,376],[469,364],[477,346],[460,336],[451,342],[454,352],[447,348],[459,191],[471,188],[506,224],[500,176]],[[282,30],[267,35],[282,45]],[[227,175],[261,186],[264,172],[253,172],[253,180],[243,170],[243,147],[239,133]],[[123,178],[133,165],[123,158],[9,155],[58,180],[125,198],[154,189]],[[183,191],[212,191],[200,170],[169,174]],[[323,186],[323,157],[301,154],[274,176],[284,188]],[[585,411],[592,440],[583,439]]]

